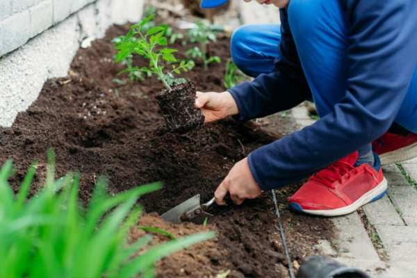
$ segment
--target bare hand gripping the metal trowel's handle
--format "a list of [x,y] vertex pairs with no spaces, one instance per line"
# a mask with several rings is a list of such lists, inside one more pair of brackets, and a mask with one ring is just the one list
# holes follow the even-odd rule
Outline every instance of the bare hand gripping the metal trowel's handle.
[[215,202],[220,206],[226,205],[224,197],[227,193],[230,194],[231,200],[238,205],[242,204],[245,199],[254,199],[261,195],[262,190],[250,172],[247,158],[236,163],[220,183],[214,193]]

